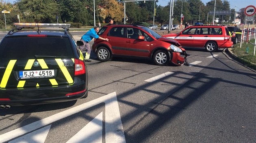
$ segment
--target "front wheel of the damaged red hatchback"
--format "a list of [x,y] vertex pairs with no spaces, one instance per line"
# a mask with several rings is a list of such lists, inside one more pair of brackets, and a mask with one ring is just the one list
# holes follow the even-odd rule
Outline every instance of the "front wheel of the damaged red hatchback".
[[158,50],[153,55],[153,61],[156,65],[166,65],[170,60],[170,56],[167,51]]

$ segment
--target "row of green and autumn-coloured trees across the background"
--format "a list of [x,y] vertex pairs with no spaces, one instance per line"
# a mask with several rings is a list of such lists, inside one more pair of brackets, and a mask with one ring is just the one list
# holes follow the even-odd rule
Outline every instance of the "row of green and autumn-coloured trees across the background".
[[[94,11],[93,1],[95,1],[95,21],[108,23],[109,17],[114,20],[114,23],[123,23],[124,21],[124,0],[16,0],[15,4],[3,2],[0,0],[0,8],[11,11],[6,14],[7,25],[12,25],[18,22],[17,15],[20,15],[20,22],[41,22],[41,23],[56,23],[56,16],[59,17],[60,23],[72,22],[85,25],[94,25]],[[155,22],[163,24],[169,23],[170,4],[167,6],[157,6],[153,1],[139,1],[127,2],[126,1],[126,16],[128,17],[127,23],[140,24],[141,22]],[[156,15],[154,16],[154,4],[156,8]],[[175,18],[173,24],[180,23],[180,14],[184,15],[183,23],[200,22],[209,23],[213,19],[213,15],[207,14],[209,11],[214,11],[215,0],[210,0],[204,5],[202,0],[174,0],[174,13]],[[98,8],[97,6],[101,6]],[[102,9],[103,8],[103,9]],[[230,2],[228,0],[216,0],[216,11],[229,11]],[[244,17],[244,8],[241,8],[239,17]],[[234,9],[232,10],[234,11]],[[215,15],[222,19],[222,15]],[[224,15],[223,20],[228,21],[230,15]],[[231,17],[233,17],[231,15]],[[256,18],[256,15],[254,15]],[[241,19],[243,22],[244,19]],[[220,22],[221,24],[221,22]],[[80,25],[78,25],[80,26]],[[4,27],[4,15],[0,15],[0,28]]]

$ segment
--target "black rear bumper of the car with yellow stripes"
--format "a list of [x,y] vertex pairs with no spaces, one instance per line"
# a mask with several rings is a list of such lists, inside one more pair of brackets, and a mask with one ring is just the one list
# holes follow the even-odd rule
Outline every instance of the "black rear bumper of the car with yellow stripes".
[[0,105],[38,105],[76,100],[86,96],[88,92],[88,82],[78,80],[81,79],[75,78],[76,84],[57,87],[0,89]]

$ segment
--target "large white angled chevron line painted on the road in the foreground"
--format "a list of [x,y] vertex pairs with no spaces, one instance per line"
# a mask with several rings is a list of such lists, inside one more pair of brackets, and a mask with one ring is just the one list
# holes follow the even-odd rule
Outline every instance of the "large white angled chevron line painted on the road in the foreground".
[[[22,126],[10,132],[0,135],[0,142],[7,142],[16,137],[25,135],[33,130],[47,126],[61,120],[73,114],[76,114],[82,110],[88,109],[100,103],[105,103],[105,141],[106,143],[115,142],[115,143],[126,143],[124,136],[124,129],[121,122],[121,116],[119,112],[119,106],[117,103],[116,93],[110,93],[98,99],[94,99],[87,103],[78,105],[76,107],[67,109],[65,111],[54,114],[50,117],[44,118],[42,120],[33,122],[26,126]],[[93,127],[94,128],[94,127]],[[103,128],[103,127],[102,127]],[[93,132],[91,132],[93,134]]]

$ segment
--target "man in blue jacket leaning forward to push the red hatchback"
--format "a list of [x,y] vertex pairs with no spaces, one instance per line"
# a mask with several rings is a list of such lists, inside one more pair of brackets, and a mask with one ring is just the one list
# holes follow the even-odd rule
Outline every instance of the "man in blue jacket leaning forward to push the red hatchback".
[[96,39],[101,39],[101,40],[104,40],[104,41],[107,41],[108,42],[108,38],[101,38],[100,36],[97,35],[97,33],[99,32],[100,28],[95,26],[93,27],[92,29],[90,29],[88,32],[86,32],[86,34],[84,34],[82,37],[81,37],[81,40],[84,45],[83,46],[79,46],[80,50],[82,50],[83,48],[86,49],[86,53],[85,53],[85,61],[87,62],[91,62],[91,60],[89,59],[90,58],[90,54],[91,54],[91,48],[90,48],[90,44],[89,42],[93,39],[93,38],[96,38]]

